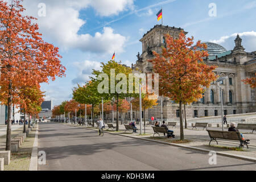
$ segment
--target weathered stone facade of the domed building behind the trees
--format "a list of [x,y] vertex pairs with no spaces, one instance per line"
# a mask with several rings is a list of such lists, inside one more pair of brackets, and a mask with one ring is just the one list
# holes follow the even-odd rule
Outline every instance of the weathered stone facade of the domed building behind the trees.
[[[133,70],[142,73],[151,73],[152,64],[147,60],[154,57],[152,51],[160,53],[161,46],[165,46],[164,34],[170,34],[177,38],[181,28],[156,25],[151,28],[140,40],[142,42],[142,55],[138,53],[138,60],[132,65]],[[185,32],[187,34],[187,32]],[[204,59],[208,65],[217,65],[214,71],[220,77],[228,78],[218,83],[223,91],[224,113],[241,114],[256,112],[256,89],[251,89],[242,80],[253,77],[256,72],[256,51],[245,52],[242,46],[242,39],[239,35],[235,40],[236,46],[231,51],[220,52],[218,55],[209,56]],[[216,44],[214,45],[216,46]],[[223,49],[223,47],[220,46]],[[214,52],[214,50],[208,50]],[[168,98],[163,100],[163,118],[167,121],[174,120],[179,115],[179,105]],[[188,118],[221,115],[220,88],[214,81],[209,88],[205,88],[204,97],[198,102],[187,106],[186,115]],[[154,109],[146,111],[146,120],[152,116],[160,118],[160,102]]]

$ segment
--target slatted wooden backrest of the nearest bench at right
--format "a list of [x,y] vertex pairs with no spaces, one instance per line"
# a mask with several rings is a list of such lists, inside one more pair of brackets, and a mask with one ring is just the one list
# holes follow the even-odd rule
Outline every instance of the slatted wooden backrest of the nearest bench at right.
[[216,131],[207,130],[210,138],[227,139],[227,140],[238,140],[240,141],[241,134],[236,131]]

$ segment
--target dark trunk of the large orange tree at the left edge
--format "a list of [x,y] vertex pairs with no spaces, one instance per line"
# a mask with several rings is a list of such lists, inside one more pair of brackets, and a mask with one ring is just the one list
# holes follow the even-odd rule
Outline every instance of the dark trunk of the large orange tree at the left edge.
[[8,105],[7,105],[7,130],[6,130],[6,148],[5,150],[11,150],[11,92],[12,84],[9,84],[9,97],[8,97]]

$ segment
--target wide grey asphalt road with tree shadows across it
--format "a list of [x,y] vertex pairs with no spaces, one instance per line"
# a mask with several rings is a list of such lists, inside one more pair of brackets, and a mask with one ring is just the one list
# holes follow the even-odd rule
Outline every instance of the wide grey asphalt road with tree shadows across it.
[[40,123],[39,151],[46,152],[46,165],[39,171],[92,170],[256,170],[256,164],[217,156],[210,165],[208,154],[140,139],[62,125]]

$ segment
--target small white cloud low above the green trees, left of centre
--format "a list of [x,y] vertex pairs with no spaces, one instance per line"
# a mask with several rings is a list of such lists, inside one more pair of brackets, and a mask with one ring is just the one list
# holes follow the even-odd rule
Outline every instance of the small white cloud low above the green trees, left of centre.
[[92,76],[92,69],[101,70],[101,63],[97,61],[85,60],[82,62],[75,62],[75,67],[79,71],[76,78],[72,80],[72,84],[84,84],[90,80]]

